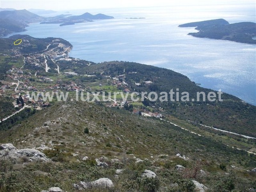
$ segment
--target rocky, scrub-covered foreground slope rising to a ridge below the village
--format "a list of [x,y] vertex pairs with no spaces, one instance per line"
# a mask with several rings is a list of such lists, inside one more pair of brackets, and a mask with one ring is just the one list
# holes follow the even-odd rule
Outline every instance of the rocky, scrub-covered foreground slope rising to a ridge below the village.
[[[253,172],[240,169],[243,166],[251,170],[256,166],[255,156],[248,156],[247,152],[227,147],[216,138],[189,133],[160,119],[93,103],[55,103],[12,129],[1,131],[0,135],[1,143],[13,143],[17,148],[38,148],[52,159],[48,163],[16,164],[15,168],[7,160],[1,160],[2,169],[8,170],[1,180],[4,182],[2,191],[27,189],[34,192],[53,186],[76,191],[72,183],[102,177],[113,181],[114,191],[191,192],[195,191],[191,180],[203,183],[212,191],[225,188],[244,191],[253,186],[255,178]],[[182,158],[186,160],[176,156],[178,153],[184,154]],[[83,161],[85,156],[89,159]],[[97,163],[99,160],[95,158],[102,163]],[[28,160],[23,157],[22,162]],[[175,168],[176,165],[180,168]],[[115,176],[116,169],[123,170],[117,173],[119,177]],[[204,172],[199,172],[201,169]],[[144,180],[140,176],[144,170],[153,171],[156,178]],[[225,172],[231,175],[226,177]],[[21,174],[27,175],[25,180],[19,179]],[[13,175],[12,179],[8,175]],[[12,186],[12,180],[19,185]],[[34,189],[26,183],[31,183]],[[101,187],[94,190],[113,191]]]

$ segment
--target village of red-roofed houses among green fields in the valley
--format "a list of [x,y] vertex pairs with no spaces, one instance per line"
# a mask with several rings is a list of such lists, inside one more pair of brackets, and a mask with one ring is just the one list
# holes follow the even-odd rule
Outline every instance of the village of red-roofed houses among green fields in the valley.
[[[29,60],[27,60],[28,62]],[[110,77],[110,76],[102,76],[103,80],[81,84],[76,83],[76,81],[72,81],[72,77],[81,77],[81,75],[75,73],[63,73],[63,74],[49,74],[49,76],[40,75],[40,71],[36,71],[36,74],[32,74],[31,70],[24,68],[12,68],[7,72],[8,79],[10,81],[2,81],[2,86],[0,87],[0,95],[11,95],[13,98],[13,107],[14,108],[22,108],[21,103],[18,103],[19,97],[21,96],[24,100],[26,106],[32,106],[33,108],[40,110],[44,107],[49,107],[51,102],[44,101],[42,97],[42,93],[46,92],[104,92],[104,91],[122,91],[125,94],[131,92],[131,86],[127,84],[125,81],[120,81],[125,79],[124,75]],[[94,77],[94,75],[84,75],[88,79],[90,77]],[[106,83],[108,82],[108,83]],[[98,83],[98,84],[97,84]],[[145,84],[150,84],[152,82],[147,81]],[[139,83],[136,83],[137,85]],[[111,90],[109,90],[111,88]],[[38,100],[31,99],[29,95],[32,92],[39,94]],[[29,94],[28,94],[29,93]],[[110,102],[103,103],[107,107],[111,108],[124,108],[125,103],[132,106],[129,110],[136,115],[142,115],[147,117],[157,117],[161,118],[162,115],[150,110],[145,107],[141,100],[134,103],[130,100],[130,94],[127,101],[123,101],[121,97],[118,97],[117,100],[113,100],[110,98]]]

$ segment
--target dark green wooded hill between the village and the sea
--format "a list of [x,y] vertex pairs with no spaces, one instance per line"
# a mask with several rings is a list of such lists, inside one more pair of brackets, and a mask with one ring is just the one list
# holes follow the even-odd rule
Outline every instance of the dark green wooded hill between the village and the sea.
[[[125,71],[125,73],[124,73]],[[85,68],[81,71],[86,74],[101,73],[106,76],[123,75],[122,79],[131,86],[131,90],[137,92],[170,92],[179,88],[179,93],[189,92],[191,98],[196,98],[196,92],[205,92],[206,95],[213,91],[196,85],[188,77],[165,68],[142,65],[131,62],[105,62]],[[136,73],[135,73],[136,72]],[[151,84],[143,82],[151,81]],[[136,85],[139,83],[140,85]],[[215,91],[216,92],[216,91]],[[217,92],[216,92],[217,95]],[[174,98],[176,94],[174,94]],[[239,98],[223,94],[223,102],[148,102],[146,105],[161,107],[169,114],[184,120],[190,120],[195,124],[203,123],[216,128],[244,133],[253,137],[256,124],[256,107],[242,102]],[[179,95],[181,99],[181,94]],[[145,105],[145,103],[144,103]]]

